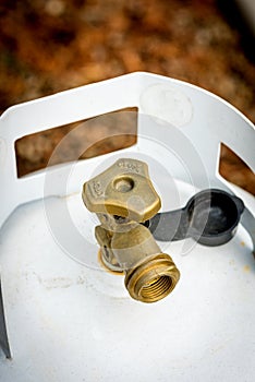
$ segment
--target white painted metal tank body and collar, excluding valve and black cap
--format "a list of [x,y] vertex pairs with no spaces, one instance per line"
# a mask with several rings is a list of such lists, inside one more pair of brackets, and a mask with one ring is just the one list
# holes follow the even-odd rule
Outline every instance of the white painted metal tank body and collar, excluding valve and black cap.
[[[19,138],[131,106],[139,111],[135,146],[17,179]],[[100,270],[96,222],[80,195],[117,157],[141,158],[165,210],[208,186],[233,190],[250,211],[251,234],[254,200],[218,175],[220,142],[255,169],[254,128],[244,116],[198,87],[148,73],[2,115],[0,271],[13,359],[0,353],[0,381],[254,381],[255,262],[244,227],[221,247],[166,243],[181,280],[147,306],[127,297],[121,276]]]

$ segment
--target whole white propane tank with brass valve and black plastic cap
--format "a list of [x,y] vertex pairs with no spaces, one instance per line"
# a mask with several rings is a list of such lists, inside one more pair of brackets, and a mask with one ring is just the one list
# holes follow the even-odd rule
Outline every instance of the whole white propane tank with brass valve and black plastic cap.
[[[17,139],[134,106],[133,146],[17,178]],[[255,202],[221,142],[255,169],[240,111],[150,73],[1,116],[1,381],[254,381]]]

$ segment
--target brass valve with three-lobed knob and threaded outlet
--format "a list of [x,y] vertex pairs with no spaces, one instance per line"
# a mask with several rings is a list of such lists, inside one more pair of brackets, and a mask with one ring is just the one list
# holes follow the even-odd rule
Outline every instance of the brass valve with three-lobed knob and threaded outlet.
[[83,201],[101,223],[95,228],[101,261],[108,270],[125,274],[131,297],[155,302],[169,295],[180,273],[146,228],[161,206],[147,165],[117,160],[84,184]]

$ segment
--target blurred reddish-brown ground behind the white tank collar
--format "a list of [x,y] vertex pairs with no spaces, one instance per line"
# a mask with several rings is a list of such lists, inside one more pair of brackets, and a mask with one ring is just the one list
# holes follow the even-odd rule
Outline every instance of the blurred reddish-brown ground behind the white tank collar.
[[[17,103],[139,70],[204,87],[255,122],[254,39],[238,7],[222,3],[3,0],[0,112]],[[46,166],[70,129],[21,140],[19,174]],[[104,140],[100,153],[123,146],[124,141]],[[96,154],[94,150],[87,156]],[[254,175],[227,147],[221,151],[220,171],[255,194]]]

